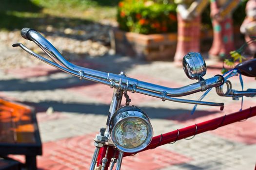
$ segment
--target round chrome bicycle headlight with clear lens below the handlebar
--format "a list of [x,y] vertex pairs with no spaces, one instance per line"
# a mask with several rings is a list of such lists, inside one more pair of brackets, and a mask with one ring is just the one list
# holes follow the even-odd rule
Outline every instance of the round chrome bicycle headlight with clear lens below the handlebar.
[[110,121],[110,129],[114,145],[127,153],[146,148],[153,137],[153,128],[148,116],[134,106],[118,109]]

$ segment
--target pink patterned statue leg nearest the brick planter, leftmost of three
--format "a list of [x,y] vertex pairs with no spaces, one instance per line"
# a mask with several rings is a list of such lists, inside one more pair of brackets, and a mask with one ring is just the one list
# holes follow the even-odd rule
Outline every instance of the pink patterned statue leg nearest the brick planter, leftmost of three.
[[200,51],[200,14],[208,0],[175,0],[175,3],[178,4],[178,37],[174,61],[181,66],[184,55]]

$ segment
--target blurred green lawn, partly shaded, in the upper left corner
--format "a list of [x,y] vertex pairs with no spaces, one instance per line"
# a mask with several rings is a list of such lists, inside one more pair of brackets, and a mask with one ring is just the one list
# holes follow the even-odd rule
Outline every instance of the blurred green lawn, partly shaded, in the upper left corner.
[[69,28],[115,19],[119,0],[0,0],[0,30]]

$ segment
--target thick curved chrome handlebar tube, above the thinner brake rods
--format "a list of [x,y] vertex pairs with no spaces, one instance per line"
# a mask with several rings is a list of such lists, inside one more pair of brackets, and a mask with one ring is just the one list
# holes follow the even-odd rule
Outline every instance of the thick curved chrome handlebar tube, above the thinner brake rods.
[[194,83],[192,85],[187,85],[180,88],[168,88],[161,85],[154,85],[151,83],[138,81],[136,79],[129,78],[129,77],[123,77],[117,74],[111,74],[111,73],[106,73],[106,72],[93,70],[89,68],[79,67],[68,62],[59,53],[59,51],[37,31],[30,30],[27,34],[32,41],[34,41],[43,51],[45,51],[60,66],[63,66],[65,68],[68,68],[76,72],[83,71],[84,74],[86,75],[104,79],[107,81],[114,80],[116,83],[118,83],[121,80],[122,84],[127,84],[128,82],[128,85],[136,85],[137,88],[139,89],[144,89],[147,91],[152,91],[157,93],[166,91],[167,95],[172,97],[186,96],[192,93],[196,93],[198,91],[204,91],[208,88],[216,87],[222,83],[222,80],[219,80],[220,78],[216,76],[216,77],[212,77],[210,79],[205,80],[205,82],[203,82],[205,84],[204,87],[202,86],[202,83]]

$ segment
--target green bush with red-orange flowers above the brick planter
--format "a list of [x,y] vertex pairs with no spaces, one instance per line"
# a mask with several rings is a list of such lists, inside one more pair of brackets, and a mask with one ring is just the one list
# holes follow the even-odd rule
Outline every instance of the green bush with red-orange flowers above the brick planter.
[[140,34],[177,32],[176,5],[167,0],[124,0],[118,4],[118,24]]

